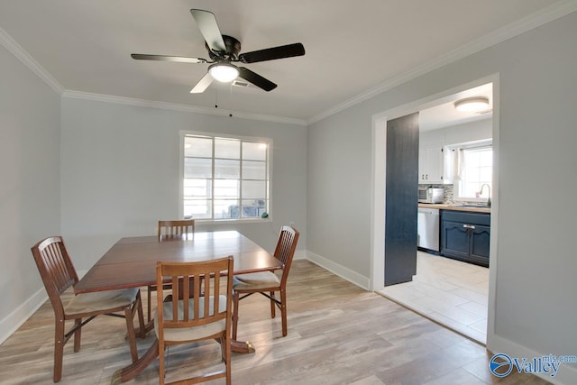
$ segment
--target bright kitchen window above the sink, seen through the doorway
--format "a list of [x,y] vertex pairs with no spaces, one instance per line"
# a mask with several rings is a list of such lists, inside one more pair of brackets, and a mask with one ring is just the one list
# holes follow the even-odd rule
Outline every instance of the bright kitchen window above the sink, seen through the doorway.
[[[464,145],[458,149],[458,152],[457,197],[487,199],[490,197],[491,180],[493,179],[493,149],[491,145]],[[489,188],[482,188],[483,185],[487,185]]]

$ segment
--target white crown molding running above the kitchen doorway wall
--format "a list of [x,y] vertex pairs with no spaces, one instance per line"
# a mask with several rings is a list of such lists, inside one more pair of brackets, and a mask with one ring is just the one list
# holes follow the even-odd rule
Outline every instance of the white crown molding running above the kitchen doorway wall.
[[441,55],[434,60],[429,60],[414,69],[409,69],[408,71],[398,75],[397,77],[390,78],[376,87],[370,88],[368,91],[363,92],[357,96],[353,96],[345,102],[335,105],[334,107],[325,110],[325,112],[315,115],[310,119],[307,119],[307,124],[314,124],[320,120],[323,120],[331,115],[337,114],[353,105],[358,105],[359,103],[371,99],[371,97],[382,94],[383,92],[389,91],[394,87],[397,87],[403,83],[408,82],[414,78],[425,75],[435,69],[440,69],[453,61],[463,59],[473,53],[479,52],[489,48],[499,42],[511,39],[521,33],[531,31],[545,23],[553,22],[554,20],[566,15],[572,14],[577,11],[577,1],[575,0],[562,0],[554,5],[551,5],[536,14],[531,14],[523,19],[518,20],[516,23],[510,23],[507,26],[490,32],[479,39],[471,41],[463,46],[451,50],[444,55]]

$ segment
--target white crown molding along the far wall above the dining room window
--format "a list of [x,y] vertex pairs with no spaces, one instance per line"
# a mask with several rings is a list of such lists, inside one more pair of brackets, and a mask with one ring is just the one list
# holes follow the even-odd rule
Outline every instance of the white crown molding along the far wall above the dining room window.
[[218,115],[218,116],[233,115],[236,118],[260,120],[265,122],[274,122],[282,124],[296,124],[303,126],[307,125],[307,122],[302,119],[293,119],[272,115],[249,114],[226,109],[219,110],[217,108],[199,107],[195,105],[179,105],[176,103],[166,103],[159,101],[136,99],[133,97],[124,97],[124,96],[92,94],[89,92],[81,92],[81,91],[66,90],[63,92],[62,97],[69,97],[72,99],[94,100],[97,102],[114,103],[119,105],[135,105],[140,107],[160,108],[164,110],[172,110],[172,111],[180,111],[180,112],[204,114],[204,115]]

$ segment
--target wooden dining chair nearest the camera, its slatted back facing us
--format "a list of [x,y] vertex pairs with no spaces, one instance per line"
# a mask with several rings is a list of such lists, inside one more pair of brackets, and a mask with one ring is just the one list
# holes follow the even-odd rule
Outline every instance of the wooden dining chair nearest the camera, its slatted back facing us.
[[[211,339],[217,339],[221,345],[224,370],[177,382],[197,383],[225,377],[230,385],[233,265],[232,255],[211,261],[157,262],[157,286],[167,280],[171,283],[170,295],[165,299],[157,297],[154,322],[159,340],[161,385],[165,381],[166,347]],[[224,293],[221,280],[225,280]]]

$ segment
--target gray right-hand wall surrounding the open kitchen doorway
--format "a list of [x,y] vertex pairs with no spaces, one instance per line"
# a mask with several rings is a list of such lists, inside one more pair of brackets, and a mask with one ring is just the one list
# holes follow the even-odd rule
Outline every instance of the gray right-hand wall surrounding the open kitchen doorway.
[[[573,13],[311,124],[308,250],[369,277],[371,117],[499,73],[497,273],[489,347],[574,354],[575,36]],[[575,365],[561,371],[557,380],[565,375],[566,383],[577,382]]]

